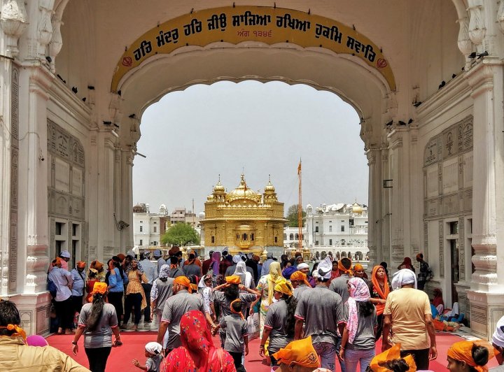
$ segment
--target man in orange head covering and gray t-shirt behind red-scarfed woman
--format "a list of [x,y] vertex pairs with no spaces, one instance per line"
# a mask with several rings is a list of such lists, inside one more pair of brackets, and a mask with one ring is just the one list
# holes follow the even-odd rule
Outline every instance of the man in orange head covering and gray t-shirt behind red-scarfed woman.
[[193,296],[190,289],[190,280],[186,276],[175,278],[172,287],[173,296],[165,302],[161,324],[158,330],[157,342],[163,345],[163,338],[168,330],[167,351],[181,345],[180,341],[180,321],[182,315],[190,310],[200,310],[204,313],[202,296]]

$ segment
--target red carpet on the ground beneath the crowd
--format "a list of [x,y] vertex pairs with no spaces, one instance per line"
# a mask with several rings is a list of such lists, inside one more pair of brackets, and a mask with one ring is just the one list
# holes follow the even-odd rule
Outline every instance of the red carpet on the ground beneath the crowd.
[[[459,333],[461,334],[461,333]],[[113,348],[111,355],[109,357],[109,362],[107,363],[107,372],[130,372],[130,371],[141,371],[137,369],[132,364],[132,359],[139,359],[141,363],[146,361],[146,357],[144,355],[144,346],[149,341],[155,341],[156,333],[153,331],[147,332],[121,332],[121,339],[123,340],[123,346],[120,348]],[[55,348],[62,350],[68,355],[71,355],[71,341],[73,340],[73,336],[59,336],[53,335],[48,337],[49,345],[54,346]],[[457,341],[461,341],[462,338],[456,336],[455,334],[447,334],[447,333],[437,333],[436,341],[437,341],[437,352],[438,356],[435,361],[430,362],[430,369],[432,371],[447,371],[447,350],[449,346]],[[214,344],[218,345],[218,337],[214,338]],[[79,352],[77,357],[73,357],[76,361],[83,366],[89,366],[87,364],[87,357],[83,348],[83,338],[80,338],[79,343]],[[249,345],[250,353],[245,358],[245,366],[247,371],[253,372],[269,372],[269,366],[265,364],[265,361],[259,356],[259,340],[256,338],[251,341]],[[381,350],[381,341],[377,343],[377,352]],[[489,362],[488,366],[493,367],[496,366],[496,359],[493,358]]]

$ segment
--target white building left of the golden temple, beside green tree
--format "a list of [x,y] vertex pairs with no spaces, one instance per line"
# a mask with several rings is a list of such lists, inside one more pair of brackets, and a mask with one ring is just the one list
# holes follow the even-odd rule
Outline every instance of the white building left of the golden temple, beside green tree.
[[161,204],[159,213],[151,213],[149,205],[140,203],[133,207],[134,250],[161,244],[161,236],[169,224],[169,215],[165,204]]

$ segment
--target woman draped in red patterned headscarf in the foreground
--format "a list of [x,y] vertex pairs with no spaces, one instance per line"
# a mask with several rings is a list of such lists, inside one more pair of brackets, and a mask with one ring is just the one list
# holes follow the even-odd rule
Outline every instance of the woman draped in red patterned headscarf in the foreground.
[[201,311],[184,314],[180,327],[182,346],[169,353],[160,372],[236,372],[231,355],[215,348]]

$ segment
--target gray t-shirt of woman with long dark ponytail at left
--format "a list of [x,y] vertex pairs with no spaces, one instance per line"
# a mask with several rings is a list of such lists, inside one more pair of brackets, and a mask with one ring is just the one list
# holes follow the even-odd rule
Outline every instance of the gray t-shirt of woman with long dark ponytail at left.
[[[80,310],[78,324],[86,326],[92,311],[92,303],[85,303]],[[108,348],[112,346],[112,328],[117,327],[118,320],[116,308],[111,303],[105,303],[102,317],[98,321],[98,327],[94,331],[84,331],[85,348]]]

